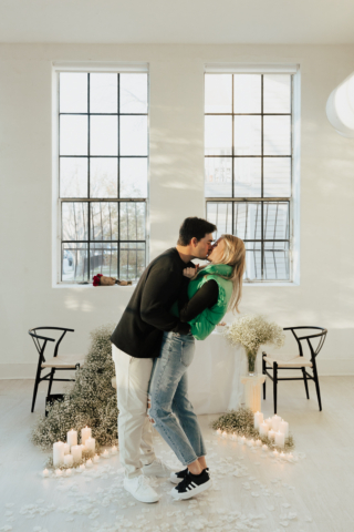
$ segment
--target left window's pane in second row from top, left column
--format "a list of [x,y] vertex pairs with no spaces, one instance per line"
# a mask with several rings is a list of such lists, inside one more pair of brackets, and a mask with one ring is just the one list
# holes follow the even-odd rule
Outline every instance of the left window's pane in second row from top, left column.
[[60,116],[60,155],[87,155],[87,116]]

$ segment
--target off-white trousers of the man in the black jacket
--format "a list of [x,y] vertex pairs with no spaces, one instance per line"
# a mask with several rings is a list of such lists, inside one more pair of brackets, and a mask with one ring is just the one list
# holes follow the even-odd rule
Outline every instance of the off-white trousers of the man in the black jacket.
[[113,344],[112,358],[115,364],[119,409],[119,459],[125,477],[133,479],[142,474],[143,466],[156,459],[152,424],[146,413],[153,359],[131,357]]

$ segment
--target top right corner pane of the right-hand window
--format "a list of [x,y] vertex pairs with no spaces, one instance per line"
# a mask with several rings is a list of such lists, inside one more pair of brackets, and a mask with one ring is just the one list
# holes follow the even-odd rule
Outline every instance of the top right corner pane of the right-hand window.
[[263,112],[291,112],[291,75],[264,74],[263,78]]

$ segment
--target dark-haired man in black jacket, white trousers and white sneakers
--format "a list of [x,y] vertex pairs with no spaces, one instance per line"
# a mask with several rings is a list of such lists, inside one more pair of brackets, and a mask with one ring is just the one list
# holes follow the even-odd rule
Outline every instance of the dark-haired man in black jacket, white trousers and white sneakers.
[[184,269],[195,267],[191,258],[207,257],[215,231],[216,226],[206,219],[189,217],[184,221],[177,246],[147,266],[111,337],[124,488],[140,502],[157,502],[159,499],[146,477],[169,477],[171,472],[155,457],[146,413],[153,361],[159,354],[164,331],[186,335],[190,330],[189,325],[169,314],[169,309],[187,291],[188,279]]

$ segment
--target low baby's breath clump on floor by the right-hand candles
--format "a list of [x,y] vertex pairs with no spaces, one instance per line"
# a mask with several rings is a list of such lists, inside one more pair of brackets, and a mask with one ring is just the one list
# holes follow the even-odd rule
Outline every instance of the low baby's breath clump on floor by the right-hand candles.
[[238,410],[230,410],[216,419],[210,427],[214,430],[220,429],[222,432],[226,431],[229,434],[236,432],[237,436],[259,439],[263,444],[268,446],[270,450],[290,451],[294,448],[294,440],[290,434],[285,438],[284,448],[275,446],[274,441],[268,438],[268,436],[260,436],[259,430],[254,429],[254,415],[250,408],[241,407]]

